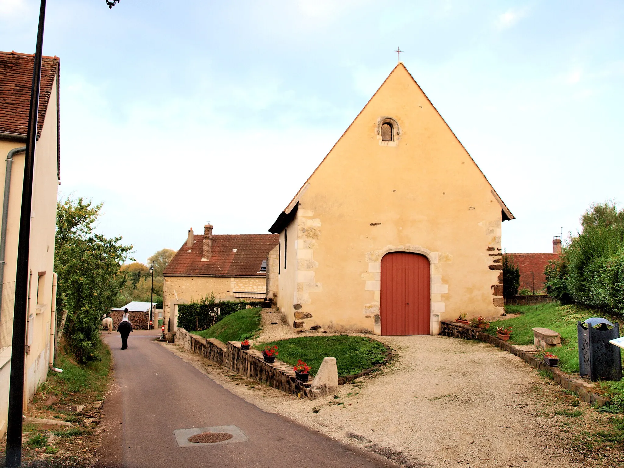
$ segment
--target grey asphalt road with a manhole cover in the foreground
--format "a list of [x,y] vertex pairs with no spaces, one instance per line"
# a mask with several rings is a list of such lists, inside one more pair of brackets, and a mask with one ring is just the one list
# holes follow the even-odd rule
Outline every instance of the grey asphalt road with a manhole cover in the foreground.
[[[153,331],[104,335],[115,361],[97,468],[396,467],[285,417],[261,411],[154,343]],[[246,442],[178,447],[173,431],[238,426]]]

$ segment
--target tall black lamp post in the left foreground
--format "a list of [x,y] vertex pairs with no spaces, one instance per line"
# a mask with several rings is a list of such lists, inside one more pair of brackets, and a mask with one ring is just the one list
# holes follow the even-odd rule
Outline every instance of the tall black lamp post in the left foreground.
[[11,349],[11,384],[9,386],[9,417],[6,432],[6,466],[22,464],[22,409],[24,405],[24,365],[26,364],[26,316],[28,311],[28,252],[31,242],[32,172],[37,143],[37,114],[39,113],[39,86],[41,85],[41,54],[43,27],[46,18],[46,0],[41,0],[39,29],[32,70],[31,107],[28,114],[26,160],[22,185],[22,211],[19,218],[17,246],[17,275],[15,279],[15,308],[13,311],[13,341]]

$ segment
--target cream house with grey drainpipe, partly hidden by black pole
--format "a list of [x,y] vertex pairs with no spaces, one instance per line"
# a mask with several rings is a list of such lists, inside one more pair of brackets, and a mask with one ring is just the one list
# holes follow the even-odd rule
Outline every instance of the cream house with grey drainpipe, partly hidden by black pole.
[[[0,178],[4,181],[2,225],[6,222],[6,228],[0,232],[0,437],[7,424],[17,243],[33,67],[32,55],[0,52],[0,154],[6,160],[0,165]],[[31,204],[25,402],[46,381],[54,350],[50,337],[54,336],[56,323],[54,235],[61,183],[60,155],[59,58],[44,57]]]

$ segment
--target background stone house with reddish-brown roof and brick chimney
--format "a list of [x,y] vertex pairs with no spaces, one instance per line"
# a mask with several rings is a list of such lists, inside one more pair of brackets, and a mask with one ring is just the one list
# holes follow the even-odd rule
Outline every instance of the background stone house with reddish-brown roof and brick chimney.
[[163,272],[163,323],[169,331],[175,330],[178,304],[211,294],[217,300],[266,298],[266,264],[279,236],[213,234],[212,230],[208,224],[203,235],[195,235],[191,228]]

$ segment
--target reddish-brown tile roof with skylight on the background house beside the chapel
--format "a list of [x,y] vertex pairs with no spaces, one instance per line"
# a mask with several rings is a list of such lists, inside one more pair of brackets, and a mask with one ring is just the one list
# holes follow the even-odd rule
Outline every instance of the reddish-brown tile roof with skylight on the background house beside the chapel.
[[183,243],[165,268],[165,276],[265,276],[258,273],[262,261],[280,241],[279,234],[215,234],[212,256],[202,261],[203,235],[193,238],[191,251]]

